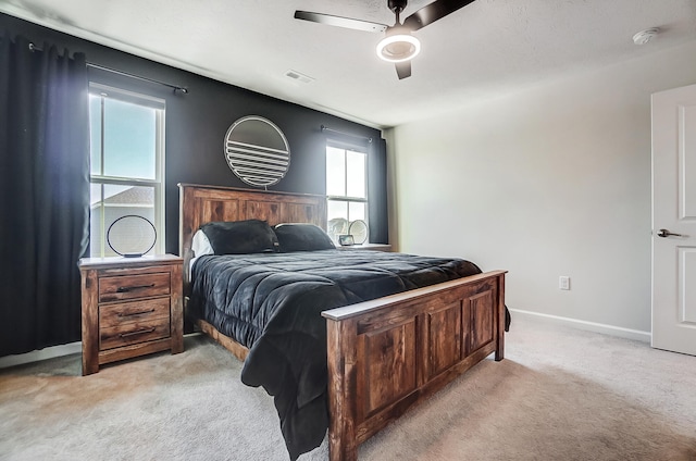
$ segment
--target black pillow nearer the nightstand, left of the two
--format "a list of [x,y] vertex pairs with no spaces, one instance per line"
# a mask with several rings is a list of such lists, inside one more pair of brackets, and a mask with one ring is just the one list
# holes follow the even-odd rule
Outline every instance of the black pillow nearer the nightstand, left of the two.
[[200,226],[215,254],[277,252],[278,240],[265,221],[219,221]]

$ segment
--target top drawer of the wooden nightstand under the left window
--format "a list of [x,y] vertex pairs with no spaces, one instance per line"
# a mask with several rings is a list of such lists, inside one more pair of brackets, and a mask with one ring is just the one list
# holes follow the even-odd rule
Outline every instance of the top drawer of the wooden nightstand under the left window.
[[99,302],[149,298],[170,294],[170,272],[99,278]]

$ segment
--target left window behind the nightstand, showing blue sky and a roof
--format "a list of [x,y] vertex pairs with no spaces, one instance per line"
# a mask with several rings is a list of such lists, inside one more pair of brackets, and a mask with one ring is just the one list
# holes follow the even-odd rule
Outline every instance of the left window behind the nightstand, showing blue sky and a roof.
[[[107,232],[132,214],[154,225],[158,238],[149,253],[163,253],[164,101],[99,84],[89,89],[90,256],[116,256]],[[134,251],[149,247],[142,248],[137,229],[126,238]]]

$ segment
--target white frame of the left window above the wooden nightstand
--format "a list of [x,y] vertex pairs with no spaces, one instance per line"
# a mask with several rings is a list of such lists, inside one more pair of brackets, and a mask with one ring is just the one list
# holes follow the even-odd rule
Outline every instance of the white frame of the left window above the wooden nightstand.
[[[91,166],[89,169],[89,184],[91,185],[100,185],[102,188],[102,197],[103,197],[103,186],[114,185],[114,186],[142,186],[142,187],[152,187],[154,190],[154,229],[157,232],[157,240],[154,242],[154,248],[152,249],[154,254],[163,254],[165,249],[165,233],[164,233],[164,219],[165,219],[165,204],[164,204],[164,135],[165,135],[165,112],[166,104],[165,100],[161,98],[156,98],[149,95],[144,95],[140,92],[129,91],[123,88],[117,88],[114,86],[109,86],[96,82],[89,83],[89,95],[98,96],[101,98],[101,115],[100,115],[100,164],[101,171],[100,174],[92,174]],[[104,175],[104,98],[119,100],[122,102],[128,102],[137,105],[147,107],[156,110],[156,135],[154,135],[154,178],[146,179],[146,178],[135,178],[135,177],[126,177],[126,176],[111,176]],[[90,113],[91,121],[91,113]],[[91,132],[91,129],[90,129]],[[92,147],[92,139],[90,138],[90,149]],[[100,207],[104,207],[103,200],[100,201]],[[90,207],[91,210],[91,207]],[[91,219],[90,219],[91,220]],[[107,242],[107,228],[105,228],[105,213],[102,210],[101,213],[101,229],[102,233],[99,236],[99,247],[100,251],[98,254],[94,253],[92,241],[94,236],[90,234],[89,239],[89,252],[95,257],[104,257],[104,251],[108,247]]]

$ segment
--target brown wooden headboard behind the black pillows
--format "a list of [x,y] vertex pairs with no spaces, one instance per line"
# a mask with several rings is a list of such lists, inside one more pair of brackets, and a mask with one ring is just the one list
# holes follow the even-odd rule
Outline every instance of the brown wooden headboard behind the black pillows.
[[185,267],[191,258],[191,240],[198,228],[211,221],[263,220],[312,223],[326,229],[326,197],[270,192],[222,186],[179,184],[179,256]]

